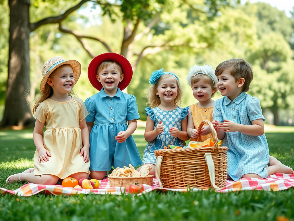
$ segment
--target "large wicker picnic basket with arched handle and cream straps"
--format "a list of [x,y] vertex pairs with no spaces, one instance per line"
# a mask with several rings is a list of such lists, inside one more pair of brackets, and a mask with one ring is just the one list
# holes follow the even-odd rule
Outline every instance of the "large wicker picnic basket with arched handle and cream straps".
[[218,189],[225,186],[227,179],[227,150],[219,147],[218,138],[213,124],[202,121],[211,129],[213,147],[187,147],[184,149],[156,150],[156,178],[164,188]]

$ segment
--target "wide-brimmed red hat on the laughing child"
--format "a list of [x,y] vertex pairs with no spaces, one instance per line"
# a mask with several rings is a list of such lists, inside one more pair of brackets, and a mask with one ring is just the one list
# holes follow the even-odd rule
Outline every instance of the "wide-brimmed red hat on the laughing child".
[[125,89],[132,80],[133,69],[130,62],[125,57],[116,53],[104,53],[93,58],[88,67],[88,78],[93,87],[99,91],[102,88],[102,84],[97,80],[96,76],[98,66],[103,61],[116,61],[121,65],[124,77],[123,80],[118,83],[118,88],[121,90]]

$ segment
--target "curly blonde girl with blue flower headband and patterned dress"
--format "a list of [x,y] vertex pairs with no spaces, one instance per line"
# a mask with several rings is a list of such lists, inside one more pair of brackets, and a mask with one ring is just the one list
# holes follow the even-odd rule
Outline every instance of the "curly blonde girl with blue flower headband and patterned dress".
[[[151,164],[150,174],[155,176],[155,150],[169,144],[185,146],[187,134],[187,108],[181,108],[183,89],[178,77],[163,68],[152,73],[147,93],[145,140],[148,141],[143,155],[143,164]],[[141,168],[138,168],[140,170]]]

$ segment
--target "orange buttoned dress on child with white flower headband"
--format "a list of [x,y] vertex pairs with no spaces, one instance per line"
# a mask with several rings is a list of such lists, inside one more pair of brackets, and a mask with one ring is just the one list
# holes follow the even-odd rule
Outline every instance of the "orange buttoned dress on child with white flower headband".
[[[210,108],[200,108],[198,107],[198,103],[196,103],[189,106],[188,112],[192,114],[193,123],[196,130],[198,130],[198,126],[202,121],[213,121],[213,106]],[[205,124],[204,126],[206,125],[207,124]],[[198,137],[198,139],[191,138],[191,141],[206,141],[208,138],[211,138],[211,134],[207,134],[206,136],[200,136]]]

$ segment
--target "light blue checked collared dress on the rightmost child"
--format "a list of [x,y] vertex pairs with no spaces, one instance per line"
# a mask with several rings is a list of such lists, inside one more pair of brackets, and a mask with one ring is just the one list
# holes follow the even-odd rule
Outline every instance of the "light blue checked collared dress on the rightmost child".
[[[214,102],[213,120],[225,120],[251,125],[251,121],[263,119],[260,101],[242,92],[233,101],[223,97]],[[268,143],[265,134],[251,136],[244,133],[226,132],[223,146],[228,149],[228,175],[233,180],[240,179],[244,174],[258,174],[261,178],[268,177],[265,169],[269,161]]]

